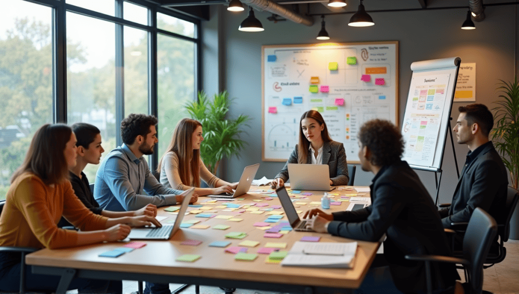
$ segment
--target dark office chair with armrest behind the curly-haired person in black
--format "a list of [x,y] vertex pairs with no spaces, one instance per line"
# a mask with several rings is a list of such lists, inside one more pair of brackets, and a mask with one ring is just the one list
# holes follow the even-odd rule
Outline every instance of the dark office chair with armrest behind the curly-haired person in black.
[[488,293],[483,291],[483,263],[497,234],[497,223],[493,217],[481,208],[474,209],[467,231],[463,237],[463,257],[406,255],[405,259],[424,261],[427,275],[427,292],[432,293],[431,261],[463,264],[468,272],[465,283],[466,293]]

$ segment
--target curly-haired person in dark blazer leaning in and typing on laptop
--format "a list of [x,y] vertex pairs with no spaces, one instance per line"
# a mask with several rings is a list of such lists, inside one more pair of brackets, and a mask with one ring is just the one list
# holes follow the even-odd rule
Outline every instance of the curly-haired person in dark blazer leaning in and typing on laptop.
[[[359,158],[362,170],[375,174],[372,205],[334,213],[312,209],[305,214],[313,217],[310,227],[317,232],[370,242],[386,234],[384,256],[375,258],[360,293],[426,292],[425,263],[404,257],[451,254],[438,209],[418,175],[400,159],[403,150],[402,135],[392,123],[380,119],[365,123],[359,132]],[[431,265],[435,292],[453,291],[459,278],[455,265]]]

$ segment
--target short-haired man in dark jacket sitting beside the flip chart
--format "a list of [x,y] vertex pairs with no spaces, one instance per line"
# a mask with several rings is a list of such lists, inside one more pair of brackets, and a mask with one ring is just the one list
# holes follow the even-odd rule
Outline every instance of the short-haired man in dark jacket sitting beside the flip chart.
[[[501,222],[506,206],[508,174],[501,157],[488,140],[494,118],[487,106],[469,104],[459,107],[454,127],[458,144],[467,144],[469,153],[461,170],[452,204],[440,210],[444,228],[453,222],[468,222],[476,207]],[[461,242],[461,238],[457,238]]]

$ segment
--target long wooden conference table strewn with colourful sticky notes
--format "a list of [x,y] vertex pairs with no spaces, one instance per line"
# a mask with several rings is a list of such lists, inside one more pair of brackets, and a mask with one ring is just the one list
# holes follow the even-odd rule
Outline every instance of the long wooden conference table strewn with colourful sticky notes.
[[[297,192],[289,190],[289,195],[294,198],[293,203],[299,217],[302,218],[304,212],[311,208],[321,207],[320,199],[324,192]],[[369,193],[358,193],[349,186],[338,186],[329,192],[329,195],[332,196],[334,205],[326,210],[328,212],[346,210],[349,197],[369,197]],[[240,207],[227,208],[228,203]],[[252,186],[248,194],[226,199],[226,201],[199,197],[196,204],[202,207],[189,207],[189,214],[185,215],[183,223],[197,220],[200,222],[190,228],[180,229],[169,240],[145,240],[144,247],[134,249],[117,258],[99,257],[99,255],[124,246],[130,242],[128,239],[74,248],[42,249],[26,256],[26,263],[32,266],[33,273],[61,276],[58,294],[66,291],[73,277],[140,280],[289,293],[348,293],[361,285],[380,246],[379,242],[358,241],[357,255],[351,269],[281,266],[279,263],[267,262],[269,255],[262,253],[257,253],[257,258],[253,261],[235,260],[235,254],[225,252],[225,249],[239,246],[244,240],[260,242],[257,246],[248,248],[247,253],[256,253],[267,243],[285,243],[286,247],[278,250],[290,250],[294,242],[304,236],[319,236],[319,242],[354,240],[327,233],[293,230],[280,232],[282,236],[279,238],[264,237],[265,227],[254,226],[254,224],[264,222],[270,216],[267,213],[272,211],[278,215],[281,213],[283,218],[280,221],[286,221],[277,195],[269,186]],[[167,217],[161,220],[161,223],[169,224],[175,220],[176,215],[175,212],[165,211],[165,208],[168,207],[159,208],[157,215],[162,218]],[[211,213],[215,216],[197,217],[200,213]],[[228,219],[229,217],[232,218]],[[223,225],[217,228],[226,226],[229,228],[214,229],[216,225]],[[242,232],[247,236],[243,239],[226,238],[225,235],[231,232]],[[201,243],[196,246],[181,244],[189,239]],[[224,240],[231,242],[226,248],[209,246],[214,241]],[[186,254],[200,255],[200,258],[193,262],[176,261],[178,257]]]

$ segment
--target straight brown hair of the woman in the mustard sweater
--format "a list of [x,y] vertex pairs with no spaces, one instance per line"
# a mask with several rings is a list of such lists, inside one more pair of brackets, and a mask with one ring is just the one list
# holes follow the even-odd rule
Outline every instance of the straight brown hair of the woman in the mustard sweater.
[[11,183],[24,172],[32,172],[46,185],[60,184],[69,179],[69,167],[65,158],[66,143],[72,129],[65,124],[45,124],[31,141],[22,165],[12,175]]

